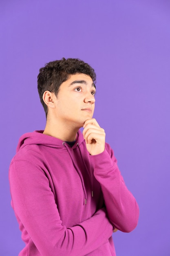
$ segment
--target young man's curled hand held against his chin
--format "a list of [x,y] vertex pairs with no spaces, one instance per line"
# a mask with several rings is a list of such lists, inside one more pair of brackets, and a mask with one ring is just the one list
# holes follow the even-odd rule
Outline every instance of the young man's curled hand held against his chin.
[[99,126],[96,119],[87,119],[83,126],[83,136],[86,148],[91,155],[98,155],[105,149],[105,132]]

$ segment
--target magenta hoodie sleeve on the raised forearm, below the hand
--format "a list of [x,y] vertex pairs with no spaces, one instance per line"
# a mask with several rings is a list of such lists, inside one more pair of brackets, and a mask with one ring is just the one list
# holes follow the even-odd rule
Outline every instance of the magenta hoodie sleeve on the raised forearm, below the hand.
[[124,183],[113,150],[106,144],[104,152],[92,155],[91,160],[94,176],[102,187],[110,222],[123,232],[132,231],[137,226],[139,207]]

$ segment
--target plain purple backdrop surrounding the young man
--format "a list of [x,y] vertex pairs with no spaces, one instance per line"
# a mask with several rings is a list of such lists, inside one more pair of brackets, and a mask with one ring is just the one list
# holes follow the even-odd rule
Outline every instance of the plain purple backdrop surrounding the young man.
[[170,255],[170,1],[0,1],[0,255],[23,247],[8,169],[19,137],[43,129],[37,75],[73,57],[97,73],[94,117],[140,207],[117,256]]

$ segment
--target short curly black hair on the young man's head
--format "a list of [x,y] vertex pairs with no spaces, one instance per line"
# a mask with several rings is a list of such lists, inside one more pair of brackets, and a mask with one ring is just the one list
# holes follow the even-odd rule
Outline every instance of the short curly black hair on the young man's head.
[[40,68],[38,74],[38,93],[40,101],[45,110],[46,117],[48,113],[48,107],[44,103],[42,96],[45,91],[54,92],[57,96],[60,85],[69,79],[71,74],[86,74],[91,77],[95,83],[96,74],[95,70],[78,58],[62,58],[58,61],[51,61],[46,63],[45,67]]

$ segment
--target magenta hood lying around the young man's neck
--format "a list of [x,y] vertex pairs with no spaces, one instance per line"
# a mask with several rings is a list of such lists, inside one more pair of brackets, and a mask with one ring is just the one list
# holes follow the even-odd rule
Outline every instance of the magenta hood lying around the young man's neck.
[[[24,146],[27,145],[33,145],[33,144],[40,144],[44,146],[48,146],[51,148],[59,148],[65,150],[65,147],[63,146],[63,140],[57,139],[55,137],[43,134],[43,130],[35,130],[34,132],[27,132],[24,135],[22,135],[19,139],[18,146],[16,148],[16,153],[18,153],[19,150],[24,148]],[[80,145],[84,141],[83,135],[81,131],[79,130],[77,132],[76,141],[72,148],[75,148],[77,146],[77,143]]]

